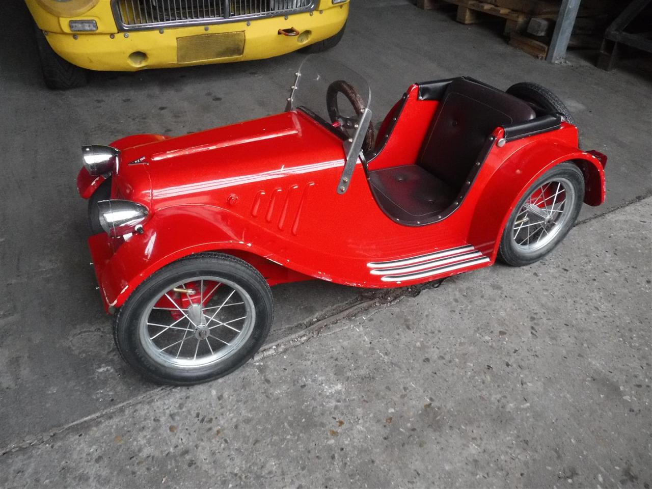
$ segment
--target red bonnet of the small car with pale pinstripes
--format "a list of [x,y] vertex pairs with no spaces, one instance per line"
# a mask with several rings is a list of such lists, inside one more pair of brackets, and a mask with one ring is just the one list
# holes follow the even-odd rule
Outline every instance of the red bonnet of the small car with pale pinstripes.
[[210,204],[215,191],[341,165],[342,140],[300,111],[121,148],[119,198],[151,209]]

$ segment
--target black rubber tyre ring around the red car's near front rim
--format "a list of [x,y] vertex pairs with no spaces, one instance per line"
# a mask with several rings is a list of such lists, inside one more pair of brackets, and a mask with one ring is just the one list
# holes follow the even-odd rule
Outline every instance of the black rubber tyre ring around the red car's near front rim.
[[[193,369],[162,366],[156,363],[140,342],[138,321],[146,304],[166,291],[169,284],[198,274],[217,273],[236,282],[254,302],[256,320],[251,336],[223,362]],[[193,385],[217,379],[242,366],[263,345],[274,319],[272,293],[267,281],[254,267],[235,256],[201,253],[179,259],[147,278],[130,295],[113,319],[113,339],[118,351],[144,378],[159,384]]]

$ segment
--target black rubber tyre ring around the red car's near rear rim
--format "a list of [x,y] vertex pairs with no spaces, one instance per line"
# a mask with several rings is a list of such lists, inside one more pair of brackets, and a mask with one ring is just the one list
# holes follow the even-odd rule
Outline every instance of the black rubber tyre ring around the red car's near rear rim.
[[[563,224],[563,228],[557,233],[554,239],[543,246],[540,250],[537,250],[535,253],[524,254],[521,250],[516,248],[514,241],[512,239],[512,230],[514,229],[514,221],[516,216],[524,205],[525,201],[529,196],[534,192],[537,187],[541,186],[544,181],[550,179],[550,177],[565,177],[569,180],[574,187],[576,192],[576,201],[573,208],[571,209],[571,214],[567,221]],[[582,209],[582,201],[584,200],[584,175],[582,171],[571,162],[565,162],[558,164],[552,170],[548,171],[541,178],[539,178],[535,183],[533,183],[523,195],[523,197],[518,201],[512,215],[507,221],[505,230],[503,230],[503,235],[500,240],[500,246],[498,248],[498,259],[507,265],[512,265],[513,267],[522,267],[524,265],[530,265],[539,261],[541,258],[550,253],[557,244],[561,243],[566,237],[568,232],[574,226],[577,216]]]

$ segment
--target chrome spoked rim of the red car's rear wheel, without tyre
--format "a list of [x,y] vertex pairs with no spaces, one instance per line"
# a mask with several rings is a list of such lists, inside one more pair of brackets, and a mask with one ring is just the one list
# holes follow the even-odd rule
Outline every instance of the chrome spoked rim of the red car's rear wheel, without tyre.
[[539,185],[518,209],[512,226],[512,243],[521,252],[537,252],[553,243],[571,218],[575,187],[563,177]]

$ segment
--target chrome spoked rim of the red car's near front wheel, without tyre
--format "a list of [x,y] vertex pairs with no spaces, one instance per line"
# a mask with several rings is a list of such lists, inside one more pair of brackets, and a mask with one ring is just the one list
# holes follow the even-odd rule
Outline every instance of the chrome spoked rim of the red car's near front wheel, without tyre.
[[192,369],[226,361],[250,338],[255,321],[254,301],[241,286],[197,276],[149,301],[138,335],[156,363]]

